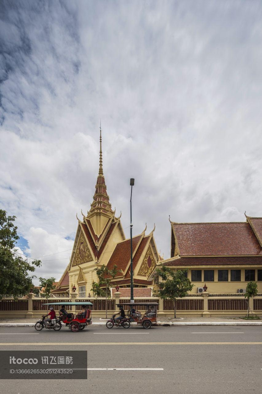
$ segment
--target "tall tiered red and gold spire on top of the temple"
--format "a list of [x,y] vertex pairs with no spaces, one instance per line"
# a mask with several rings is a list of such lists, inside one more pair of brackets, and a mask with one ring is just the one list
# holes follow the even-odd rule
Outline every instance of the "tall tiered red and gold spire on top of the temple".
[[107,194],[105,177],[103,174],[101,125],[100,125],[100,153],[99,153],[98,178],[96,181],[96,190],[93,196],[93,202],[91,204],[91,208],[87,214],[87,217],[90,218],[96,214],[102,214],[107,217],[110,217],[113,214],[111,204],[109,203],[109,195]]

